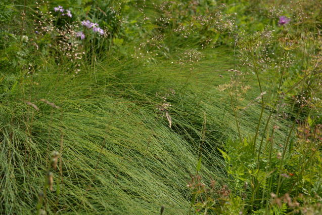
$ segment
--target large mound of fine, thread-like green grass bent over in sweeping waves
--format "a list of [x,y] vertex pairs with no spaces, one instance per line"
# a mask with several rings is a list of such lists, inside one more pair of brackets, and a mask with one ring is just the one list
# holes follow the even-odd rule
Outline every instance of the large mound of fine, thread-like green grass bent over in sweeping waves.
[[[1,211],[35,213],[48,158],[60,151],[62,134],[63,183],[58,195],[60,177],[54,171],[56,192],[47,192],[43,207],[49,214],[158,214],[161,205],[166,214],[187,214],[186,185],[195,174],[202,142],[204,180],[214,179],[218,188],[227,184],[217,147],[238,136],[227,92],[216,86],[229,81],[226,70],[234,63],[226,50],[204,54],[192,73],[191,65],[171,60],[147,65],[109,61],[84,68],[76,77],[60,73],[56,65],[26,77],[22,83],[38,85],[18,84],[1,103]],[[256,82],[250,84],[256,95]],[[156,93],[169,94],[172,128],[156,109],[163,103]],[[255,104],[241,113],[244,135],[255,131],[259,111]]]

